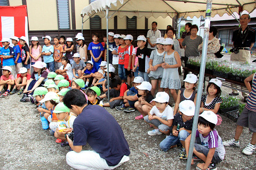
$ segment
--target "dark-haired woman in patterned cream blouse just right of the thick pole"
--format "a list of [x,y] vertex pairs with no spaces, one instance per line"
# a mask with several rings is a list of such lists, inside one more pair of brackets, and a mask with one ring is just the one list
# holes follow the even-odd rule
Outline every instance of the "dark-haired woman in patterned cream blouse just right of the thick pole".
[[[214,53],[217,53],[220,49],[220,41],[215,36],[217,35],[217,28],[210,27],[209,40],[207,48],[207,58],[216,58]],[[198,46],[198,51],[202,53],[203,43]]]

